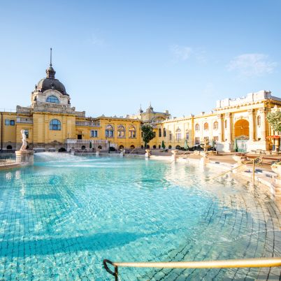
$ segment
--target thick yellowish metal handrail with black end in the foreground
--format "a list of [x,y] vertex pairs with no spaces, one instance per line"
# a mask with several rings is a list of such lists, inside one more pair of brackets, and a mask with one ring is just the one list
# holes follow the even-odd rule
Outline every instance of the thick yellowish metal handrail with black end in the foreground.
[[[114,266],[111,271],[107,264]],[[281,257],[255,259],[228,259],[219,261],[171,261],[171,262],[115,262],[103,260],[103,266],[108,273],[118,280],[118,266],[135,268],[260,268],[281,266]]]

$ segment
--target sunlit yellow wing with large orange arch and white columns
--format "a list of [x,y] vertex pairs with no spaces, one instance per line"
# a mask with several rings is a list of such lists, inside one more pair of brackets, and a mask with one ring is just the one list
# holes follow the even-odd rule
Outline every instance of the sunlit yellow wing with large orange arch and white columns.
[[[166,147],[184,147],[208,141],[218,151],[233,152],[234,143],[244,152],[270,150],[275,132],[266,120],[267,113],[279,110],[281,99],[269,91],[247,94],[238,99],[217,101],[211,113],[174,118],[157,124],[158,142]],[[279,146],[279,139],[275,146]]]

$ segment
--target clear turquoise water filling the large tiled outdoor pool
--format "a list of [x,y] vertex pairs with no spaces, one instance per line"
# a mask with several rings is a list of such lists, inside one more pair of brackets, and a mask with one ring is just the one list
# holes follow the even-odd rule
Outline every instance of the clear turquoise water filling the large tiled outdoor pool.
[[[210,180],[214,173],[163,161],[54,153],[36,154],[34,166],[0,171],[0,280],[113,280],[103,259],[280,256],[280,210],[266,188],[230,178],[222,185]],[[120,280],[278,276],[278,268],[120,268]]]

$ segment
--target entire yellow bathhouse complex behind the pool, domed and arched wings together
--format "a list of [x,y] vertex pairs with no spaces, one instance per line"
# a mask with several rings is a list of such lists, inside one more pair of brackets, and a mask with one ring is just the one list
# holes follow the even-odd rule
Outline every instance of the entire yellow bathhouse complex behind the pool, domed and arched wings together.
[[[55,78],[52,63],[31,93],[31,106],[17,106],[14,113],[1,112],[1,151],[18,150],[21,130],[33,150],[133,149],[143,147],[142,124],[151,124],[155,138],[150,148],[179,148],[208,141],[218,151],[269,150],[275,134],[266,114],[278,110],[281,99],[269,91],[247,94],[238,99],[217,101],[211,113],[171,118],[166,110],[155,112],[150,105],[127,117],[85,117],[85,111],[71,107],[71,98],[62,82]],[[277,140],[279,142],[279,139]],[[279,145],[279,143],[275,143]]]

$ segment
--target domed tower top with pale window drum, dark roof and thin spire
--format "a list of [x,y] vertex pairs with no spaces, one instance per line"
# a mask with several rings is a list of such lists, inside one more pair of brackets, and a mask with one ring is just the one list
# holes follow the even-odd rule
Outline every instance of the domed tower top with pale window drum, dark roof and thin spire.
[[70,106],[70,97],[66,93],[64,84],[55,78],[55,69],[52,67],[52,48],[50,49],[50,66],[46,69],[46,78],[41,79],[31,95],[32,105],[54,103],[59,106]]

